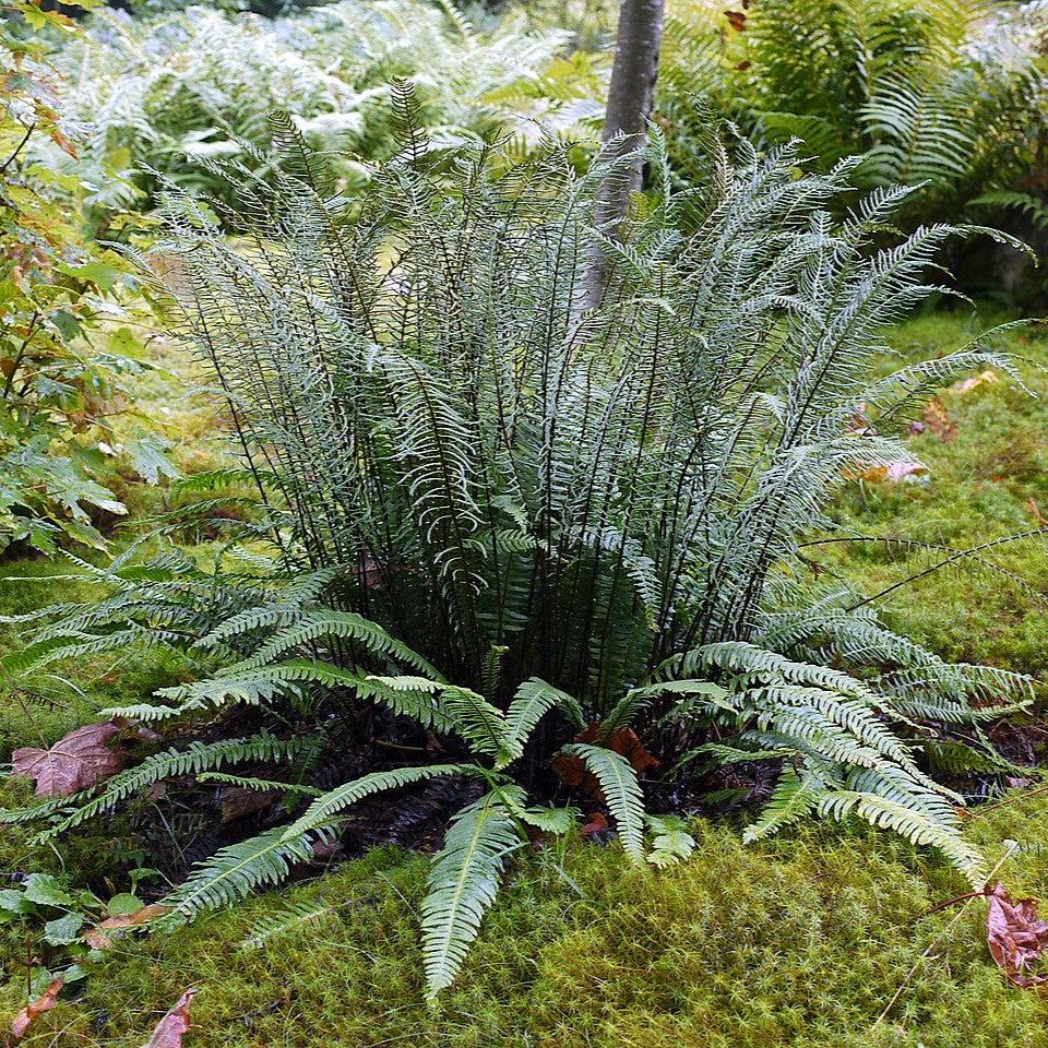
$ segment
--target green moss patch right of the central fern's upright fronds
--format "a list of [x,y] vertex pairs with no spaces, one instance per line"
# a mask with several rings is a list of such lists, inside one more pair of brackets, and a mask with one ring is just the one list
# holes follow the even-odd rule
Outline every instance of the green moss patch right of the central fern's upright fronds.
[[[1004,318],[964,312],[916,318],[890,334],[904,360],[927,359],[962,345]],[[1048,338],[1039,327],[1013,332],[1000,348],[1025,358],[1028,396],[1007,379],[940,395],[956,437],[930,431],[910,439],[929,467],[927,483],[854,485],[841,498],[838,521],[865,535],[915,538],[968,548],[1041,526],[1048,519]],[[1040,516],[1039,514],[1043,514]],[[988,551],[996,563],[1043,590],[1045,538]],[[813,559],[864,594],[874,594],[928,567],[927,555],[883,545],[823,547]],[[825,579],[825,574],[821,576]],[[946,658],[989,663],[1044,677],[1048,615],[1023,585],[974,561],[937,571],[878,602],[884,617]]]

